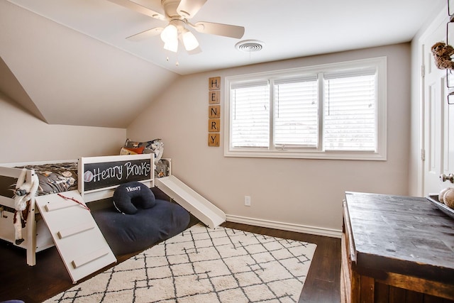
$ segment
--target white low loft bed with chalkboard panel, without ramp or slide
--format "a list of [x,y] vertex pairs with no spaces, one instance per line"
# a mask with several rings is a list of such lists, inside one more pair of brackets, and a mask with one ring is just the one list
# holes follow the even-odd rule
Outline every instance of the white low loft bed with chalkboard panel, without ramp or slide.
[[[112,197],[120,184],[137,181],[147,187],[154,186],[155,162],[153,154],[113,155],[83,157],[72,161],[9,163],[0,166],[0,238],[15,243],[13,214],[15,203],[13,189],[26,168],[26,182],[37,173],[40,187],[37,196],[77,189],[84,202],[95,202]],[[57,163],[55,163],[57,162]],[[60,162],[60,165],[59,163]],[[47,165],[47,166],[46,166]],[[60,172],[51,172],[51,168]],[[43,168],[45,167],[45,168]],[[48,169],[49,168],[49,169]],[[52,175],[55,174],[55,175]],[[43,180],[50,180],[50,184]],[[35,265],[35,253],[54,246],[52,236],[35,207],[35,197],[30,200],[26,226],[22,230],[24,241],[17,246],[26,249],[27,264]]]

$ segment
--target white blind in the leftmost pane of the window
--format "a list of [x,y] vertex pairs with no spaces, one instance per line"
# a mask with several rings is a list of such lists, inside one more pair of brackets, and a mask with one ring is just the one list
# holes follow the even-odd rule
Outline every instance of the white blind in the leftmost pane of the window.
[[270,143],[270,93],[267,82],[231,87],[231,146],[267,148]]

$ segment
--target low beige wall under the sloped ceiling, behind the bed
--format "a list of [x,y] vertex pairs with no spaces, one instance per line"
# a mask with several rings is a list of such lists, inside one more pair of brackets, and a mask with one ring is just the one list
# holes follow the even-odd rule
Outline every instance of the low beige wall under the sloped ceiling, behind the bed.
[[0,94],[0,163],[118,155],[126,129],[49,125]]

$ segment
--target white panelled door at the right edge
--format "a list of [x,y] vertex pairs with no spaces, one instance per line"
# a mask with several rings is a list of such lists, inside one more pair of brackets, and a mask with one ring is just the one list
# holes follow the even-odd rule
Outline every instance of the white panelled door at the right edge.
[[[446,70],[436,67],[431,47],[446,41],[446,25],[423,40],[423,195],[453,186],[440,180],[442,174],[454,173],[454,104],[448,105]],[[451,42],[451,41],[450,41]]]

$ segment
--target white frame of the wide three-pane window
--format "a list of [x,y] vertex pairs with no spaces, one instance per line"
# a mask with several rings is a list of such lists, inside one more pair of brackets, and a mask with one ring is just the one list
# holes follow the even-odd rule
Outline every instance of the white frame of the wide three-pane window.
[[[323,79],[319,78],[319,146],[317,148],[275,148],[270,141],[268,148],[233,148],[231,146],[231,84],[254,83],[268,81],[269,79],[282,79],[285,77],[305,77],[306,75],[330,74],[347,70],[362,70],[373,67],[377,70],[376,78],[376,136],[377,148],[375,151],[338,151],[323,150]],[[297,67],[287,70],[258,72],[248,75],[225,77],[226,87],[224,102],[224,156],[248,158],[306,158],[306,159],[338,159],[338,160],[387,160],[387,57],[374,57],[363,60],[336,62],[309,67]],[[272,88],[270,95],[272,95]],[[273,106],[271,104],[270,106]],[[272,116],[272,111],[270,113]],[[270,121],[270,136],[273,121]]]

